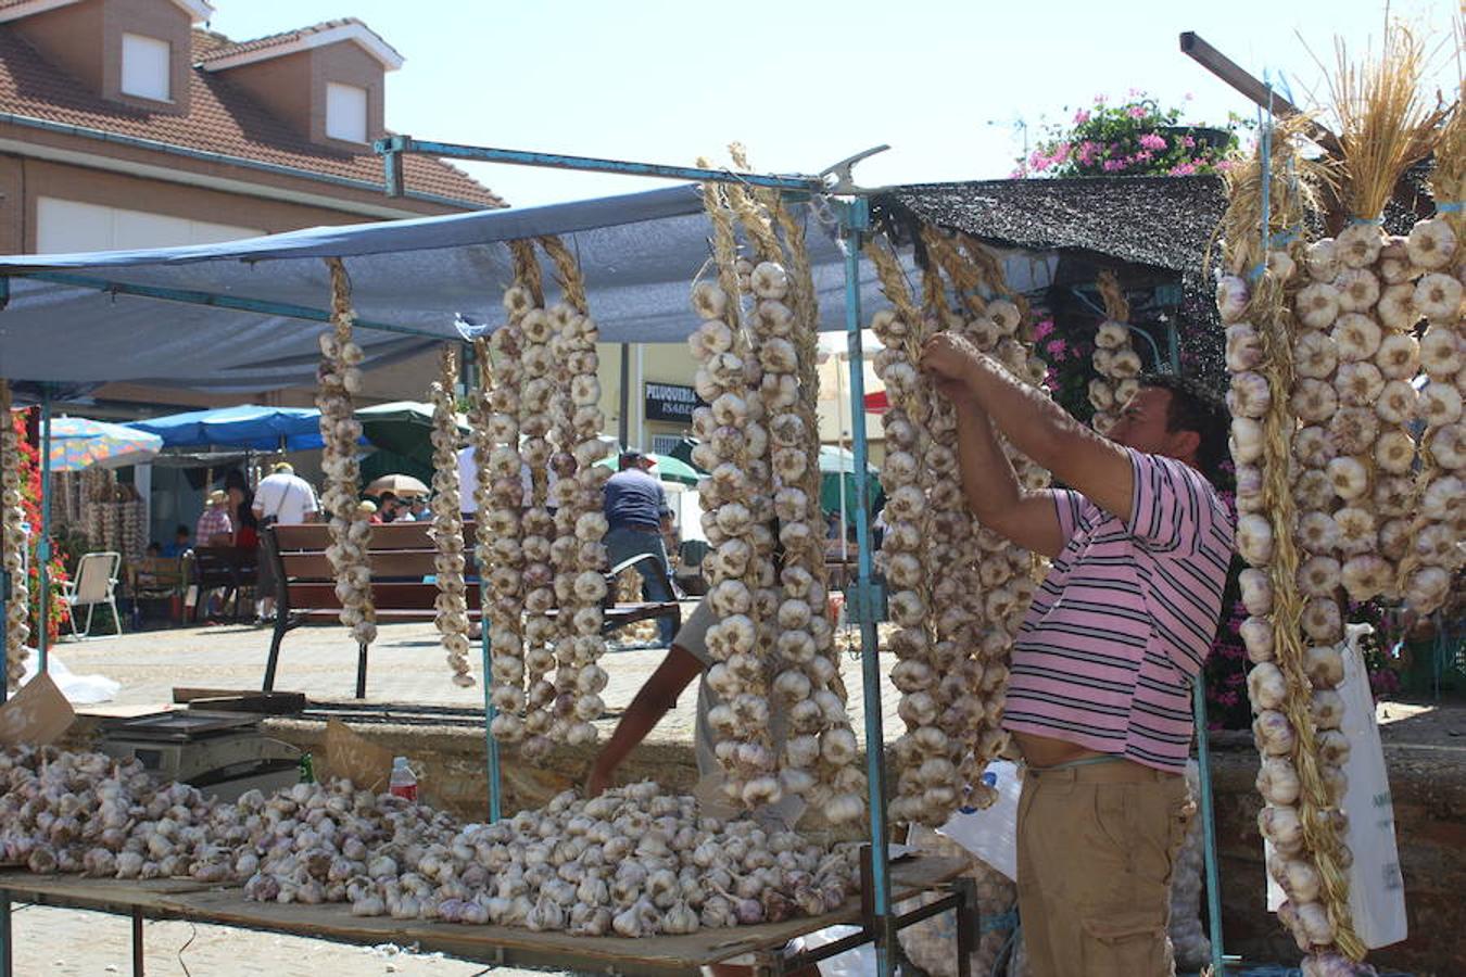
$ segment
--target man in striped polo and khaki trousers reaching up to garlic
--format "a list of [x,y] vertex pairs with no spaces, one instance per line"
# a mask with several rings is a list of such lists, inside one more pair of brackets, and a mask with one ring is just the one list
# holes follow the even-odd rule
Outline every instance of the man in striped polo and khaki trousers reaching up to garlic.
[[[1026,763],[1017,889],[1038,977],[1173,974],[1176,852],[1195,806],[1182,773],[1190,683],[1211,647],[1231,520],[1208,479],[1221,404],[1142,381],[1108,438],[950,334],[922,368],[957,412],[973,514],[1053,558],[1013,649],[1004,728]],[[1028,491],[998,444],[1069,489]]]

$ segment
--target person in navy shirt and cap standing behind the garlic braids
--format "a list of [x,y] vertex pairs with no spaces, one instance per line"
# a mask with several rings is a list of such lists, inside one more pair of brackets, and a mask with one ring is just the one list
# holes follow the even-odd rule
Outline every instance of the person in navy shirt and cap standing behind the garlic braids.
[[[610,523],[605,549],[613,567],[642,554],[655,557],[636,564],[642,593],[647,601],[676,601],[663,543],[663,533],[671,529],[671,507],[661,482],[648,473],[651,466],[651,458],[641,451],[622,451],[622,470],[605,480],[605,521]],[[658,618],[657,633],[663,647],[670,647],[676,624],[670,618]]]

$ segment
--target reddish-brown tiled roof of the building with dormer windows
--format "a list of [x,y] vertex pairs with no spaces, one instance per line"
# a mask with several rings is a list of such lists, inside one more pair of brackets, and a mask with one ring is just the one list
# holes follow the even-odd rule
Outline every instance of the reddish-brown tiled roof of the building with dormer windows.
[[[195,60],[221,44],[230,41],[194,31]],[[377,154],[352,154],[311,142],[227,78],[194,69],[189,85],[186,114],[107,101],[0,25],[0,113],[383,186]],[[506,207],[493,190],[443,160],[406,155],[403,170],[409,193],[430,193],[465,207]]]

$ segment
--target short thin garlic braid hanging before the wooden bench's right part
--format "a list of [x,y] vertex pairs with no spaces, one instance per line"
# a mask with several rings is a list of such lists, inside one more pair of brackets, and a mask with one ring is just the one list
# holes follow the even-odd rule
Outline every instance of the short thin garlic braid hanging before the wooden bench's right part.
[[443,636],[453,684],[468,687],[474,684],[474,674],[468,659],[469,621],[463,582],[468,561],[463,555],[463,513],[457,483],[457,406],[453,403],[456,376],[457,357],[453,347],[444,346],[440,378],[428,388],[432,404],[432,539],[438,548],[432,558],[438,587],[432,623]]

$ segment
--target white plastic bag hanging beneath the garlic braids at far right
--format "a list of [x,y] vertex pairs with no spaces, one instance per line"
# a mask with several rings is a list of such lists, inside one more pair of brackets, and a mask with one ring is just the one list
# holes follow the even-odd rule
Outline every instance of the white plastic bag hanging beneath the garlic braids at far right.
[[[1349,867],[1349,913],[1359,939],[1369,949],[1377,949],[1403,940],[1409,935],[1409,926],[1400,852],[1394,839],[1390,775],[1384,765],[1369,672],[1359,650],[1359,637],[1369,630],[1369,625],[1349,625],[1349,639],[1338,646],[1344,659],[1344,681],[1337,691],[1344,700],[1340,731],[1349,740],[1349,759],[1343,768],[1349,778],[1343,803],[1349,829],[1343,841],[1355,857]],[[1286,898],[1281,886],[1270,876],[1268,910],[1275,911]]]

